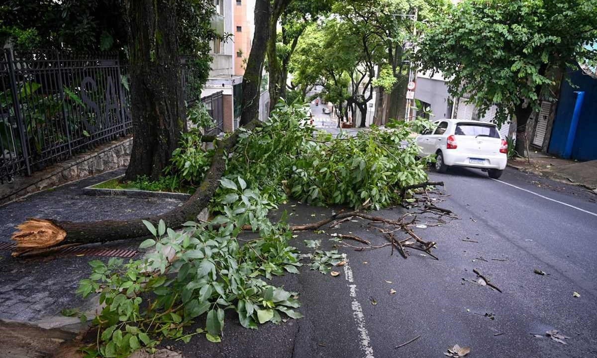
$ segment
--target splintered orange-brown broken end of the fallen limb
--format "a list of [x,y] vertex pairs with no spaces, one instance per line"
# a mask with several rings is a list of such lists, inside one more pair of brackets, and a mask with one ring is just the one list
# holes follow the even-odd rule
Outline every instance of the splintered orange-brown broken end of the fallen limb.
[[17,226],[13,233],[17,242],[16,252],[30,249],[43,249],[55,246],[66,237],[66,232],[50,220],[29,219]]

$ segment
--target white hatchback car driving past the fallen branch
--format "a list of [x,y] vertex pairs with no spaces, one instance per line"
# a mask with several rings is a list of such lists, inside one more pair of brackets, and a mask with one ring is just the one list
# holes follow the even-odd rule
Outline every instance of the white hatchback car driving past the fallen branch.
[[421,132],[416,141],[421,156],[436,154],[435,169],[467,166],[487,171],[497,179],[506,168],[508,144],[495,124],[458,119],[439,119],[437,128]]

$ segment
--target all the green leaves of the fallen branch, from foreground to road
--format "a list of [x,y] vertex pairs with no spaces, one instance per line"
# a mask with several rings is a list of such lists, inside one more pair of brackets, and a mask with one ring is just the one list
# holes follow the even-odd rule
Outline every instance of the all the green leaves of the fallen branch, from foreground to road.
[[[293,235],[285,217],[272,223],[267,213],[286,198],[288,187],[293,187],[292,196],[318,204],[369,202],[379,208],[396,202],[399,187],[426,180],[426,162],[416,161],[416,147],[407,137],[428,125],[393,122],[387,130],[333,138],[315,132],[302,105],[281,102],[263,126],[252,132],[241,128],[210,207],[213,220],[189,221],[180,232],[164,221],[144,221],[153,237],[140,248],[155,251],[128,263],[91,261],[93,273],[78,292],[84,297],[100,292],[105,307],[93,320],[99,338],[87,348],[88,355],[125,357],[166,338],[189,341],[197,334],[218,342],[225,310],[235,311],[245,328],[301,317],[294,310],[300,305],[297,294],[266,282],[298,273],[302,266],[297,249],[288,243]],[[180,163],[183,158],[191,162],[187,174],[199,178],[205,169],[194,163],[209,152],[192,152],[200,144],[198,138],[188,140],[175,156]],[[177,170],[183,174],[179,164]],[[238,235],[247,224],[259,237],[241,245]],[[308,243],[315,249],[309,266],[329,273],[343,257],[322,251],[320,243]],[[189,332],[186,328],[198,320],[201,328]]]

